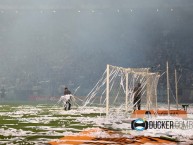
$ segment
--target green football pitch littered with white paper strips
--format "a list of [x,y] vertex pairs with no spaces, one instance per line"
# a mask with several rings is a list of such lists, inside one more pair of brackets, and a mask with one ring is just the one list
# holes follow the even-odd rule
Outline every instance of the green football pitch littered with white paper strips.
[[[192,110],[189,109],[189,111]],[[160,119],[165,120],[166,117],[160,116]],[[174,117],[173,119],[177,118]],[[112,114],[107,118],[105,108],[96,106],[74,107],[69,111],[65,111],[62,106],[53,104],[1,104],[0,145],[48,144],[51,141],[57,142],[59,138],[64,136],[79,136],[80,132],[100,127],[114,131],[114,136],[100,129],[88,136],[105,138],[106,140],[110,138],[112,142],[116,138],[126,138],[127,141],[131,141],[133,144],[135,142],[136,144],[139,143],[136,141],[139,139],[138,137],[141,137],[140,141],[142,142],[149,139],[150,143],[155,138],[160,139],[166,136],[175,139],[175,141],[178,139],[178,142],[192,143],[192,128],[136,131],[131,129],[132,120],[129,116],[121,115],[121,112]],[[177,120],[182,121],[180,118]],[[192,114],[188,114],[188,118],[184,121],[192,122]],[[154,143],[158,144],[157,140]]]

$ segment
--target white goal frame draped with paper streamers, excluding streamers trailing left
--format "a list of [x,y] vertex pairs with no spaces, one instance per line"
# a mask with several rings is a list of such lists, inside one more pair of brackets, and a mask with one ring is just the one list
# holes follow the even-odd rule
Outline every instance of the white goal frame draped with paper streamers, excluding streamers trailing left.
[[[115,70],[117,70],[117,73],[115,73]],[[149,68],[123,68],[112,66],[109,64],[107,65],[106,73],[106,115],[108,115],[110,109],[114,107],[112,105],[112,99],[113,97],[115,98],[115,96],[112,96],[112,92],[114,91],[112,89],[117,90],[117,88],[113,88],[112,79],[116,79],[116,77],[118,76],[117,74],[120,74],[120,76],[124,78],[124,86],[122,87],[125,94],[125,99],[120,99],[123,96],[118,96],[120,98],[116,99],[122,101],[120,105],[124,104],[126,113],[128,112],[129,107],[130,109],[133,108],[131,106],[133,105],[134,88],[137,83],[142,83],[143,91],[141,92],[141,94],[143,96],[143,100],[146,100],[143,101],[145,104],[145,109],[157,110],[157,84],[159,80],[158,73],[150,72]],[[112,75],[113,73],[115,75]],[[119,86],[120,85],[122,84],[120,83]],[[131,100],[130,102],[129,99]]]

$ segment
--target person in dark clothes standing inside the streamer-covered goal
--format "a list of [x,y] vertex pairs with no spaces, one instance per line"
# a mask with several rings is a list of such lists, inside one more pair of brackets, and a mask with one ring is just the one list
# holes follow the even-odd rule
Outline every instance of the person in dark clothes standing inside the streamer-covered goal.
[[136,110],[136,107],[138,108],[138,110],[141,109],[141,90],[141,83],[138,83],[137,86],[134,88],[134,111]]

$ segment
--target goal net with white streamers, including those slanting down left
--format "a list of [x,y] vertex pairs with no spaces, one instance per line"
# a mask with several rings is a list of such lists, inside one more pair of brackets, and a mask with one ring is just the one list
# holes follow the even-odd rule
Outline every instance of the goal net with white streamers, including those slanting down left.
[[142,110],[157,109],[158,73],[149,68],[122,68],[107,65],[101,79],[86,96],[83,106],[106,107],[106,114],[132,111],[135,106],[135,88],[140,83]]

